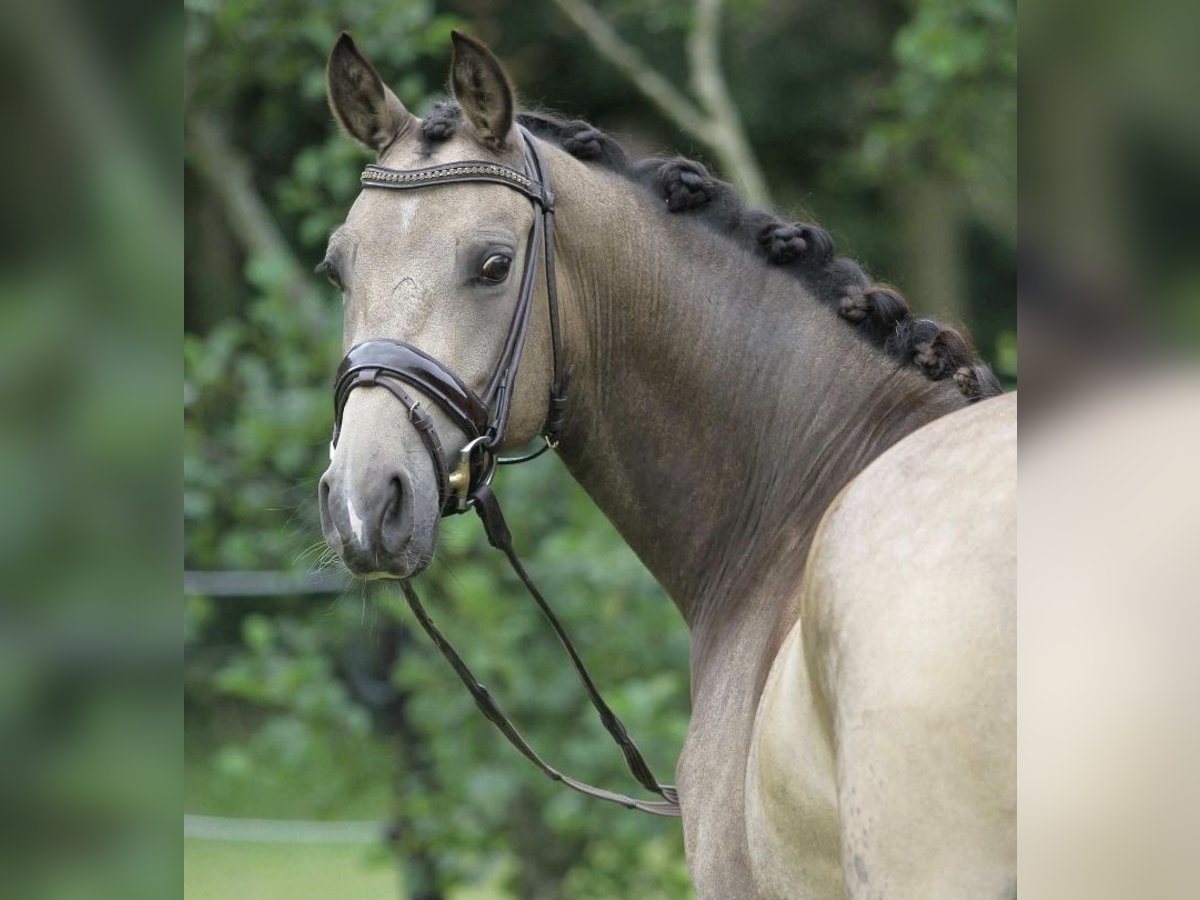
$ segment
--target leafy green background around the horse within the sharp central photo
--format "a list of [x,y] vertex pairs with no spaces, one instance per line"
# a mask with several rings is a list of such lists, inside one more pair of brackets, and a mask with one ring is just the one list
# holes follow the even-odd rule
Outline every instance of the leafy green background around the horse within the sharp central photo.
[[[637,155],[698,157],[756,204],[822,223],[918,312],[967,325],[1012,386],[1014,17],[1007,0],[185,2],[188,896],[690,895],[677,822],[534,772],[396,596],[347,586],[324,548],[341,305],[310,272],[368,158],[325,104],[338,31],[419,114],[444,96],[450,30],[482,38],[526,108],[588,119]],[[714,79],[716,95],[696,90]],[[499,491],[668,778],[688,722],[673,606],[552,457]],[[473,517],[446,523],[421,581],[553,764],[636,788]]]

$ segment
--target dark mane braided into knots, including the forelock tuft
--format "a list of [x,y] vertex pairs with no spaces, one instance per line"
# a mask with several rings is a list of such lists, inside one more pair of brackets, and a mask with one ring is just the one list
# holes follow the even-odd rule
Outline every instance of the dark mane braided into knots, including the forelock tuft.
[[[454,134],[460,118],[452,101],[433,107],[421,124],[426,150]],[[620,144],[583,120],[541,112],[521,113],[517,120],[571,156],[644,185],[666,200],[671,212],[703,216],[719,233],[803,281],[863,337],[902,365],[916,366],[935,382],[953,378],[970,402],[1002,392],[996,376],[961,331],[932,319],[913,318],[899,290],[871,282],[858,263],[835,256],[833,238],[823,228],[748,209],[732,186],[698,162],[656,157],[631,161]]]

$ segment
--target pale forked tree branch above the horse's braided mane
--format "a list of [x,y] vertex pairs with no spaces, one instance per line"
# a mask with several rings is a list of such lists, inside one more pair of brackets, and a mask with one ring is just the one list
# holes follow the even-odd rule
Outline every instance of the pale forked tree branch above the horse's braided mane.
[[655,71],[588,0],[554,0],[554,4],[596,52],[620,70],[667,119],[713,151],[721,169],[748,202],[755,205],[769,203],[767,181],[721,73],[718,52],[721,0],[696,0],[688,59],[698,104]]

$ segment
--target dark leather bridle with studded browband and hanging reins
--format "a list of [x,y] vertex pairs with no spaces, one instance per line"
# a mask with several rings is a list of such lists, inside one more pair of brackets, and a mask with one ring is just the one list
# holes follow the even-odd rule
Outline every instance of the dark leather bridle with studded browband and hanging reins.
[[[638,800],[625,794],[593,787],[577,779],[563,774],[545,762],[521,737],[516,726],[500,710],[488,690],[472,673],[462,656],[451,647],[438,630],[421,605],[409,580],[401,582],[404,599],[412,607],[418,622],[430,635],[434,646],[446,658],[455,673],[470,691],[476,706],[492,721],[521,754],[540,768],[554,781],[568,787],[596,797],[602,800],[619,803],[628,809],[637,809],[660,816],[678,816],[679,803],[676,788],[659,784],[646,764],[637,745],[625,731],[624,725],[608,708],[600,696],[590,674],[583,665],[575,644],[568,637],[558,617],[550,608],[541,592],[524,570],[521,559],[512,548],[499,502],[492,492],[491,482],[497,464],[527,462],[558,445],[563,427],[563,415],[566,408],[566,388],[570,370],[563,364],[563,338],[559,325],[558,289],[554,280],[554,192],[550,185],[550,170],[533,137],[523,127],[521,137],[524,145],[524,172],[518,172],[502,163],[467,160],[432,166],[424,169],[390,169],[383,166],[367,166],[362,172],[364,187],[379,187],[390,191],[409,191],[433,185],[451,185],[463,182],[487,182],[503,185],[520,191],[529,198],[534,208],[533,224],[529,227],[529,240],[521,271],[520,294],[516,310],[509,324],[509,331],[500,350],[496,370],[481,395],[476,395],[446,366],[418,347],[404,341],[372,340],[364,341],[350,349],[337,367],[334,384],[334,445],[337,444],[342,428],[342,414],[350,392],[355,388],[379,386],[390,391],[408,412],[408,419],[416,428],[425,449],[433,463],[438,481],[438,504],[443,516],[464,512],[474,509],[484,523],[488,542],[502,551],[512,570],[521,578],[526,589],[536,601],[554,634],[571,659],[575,671],[583,683],[588,700],[600,715],[600,721],[617,742],[625,756],[634,778],[648,791],[662,797],[661,800]],[[526,456],[499,457],[498,449],[504,440],[509,424],[509,412],[512,406],[512,391],[517,368],[524,350],[529,330],[529,317],[535,293],[538,256],[545,260],[546,298],[550,313],[550,338],[553,358],[553,377],[550,390],[550,404],[546,421],[541,430],[542,446]],[[416,389],[421,398],[414,398],[408,389]],[[467,443],[458,452],[457,464],[448,469],[446,455],[438,438],[432,416],[422,407],[424,400],[437,404],[454,424],[467,436]]]

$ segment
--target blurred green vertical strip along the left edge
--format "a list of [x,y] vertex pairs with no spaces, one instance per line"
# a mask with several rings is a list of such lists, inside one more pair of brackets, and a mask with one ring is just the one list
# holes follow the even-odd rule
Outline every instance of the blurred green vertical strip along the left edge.
[[182,228],[162,157],[181,17],[140,11],[118,54],[72,12],[0,7],[0,893],[151,900],[179,857]]

